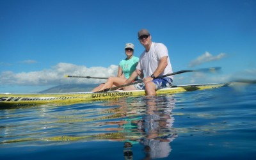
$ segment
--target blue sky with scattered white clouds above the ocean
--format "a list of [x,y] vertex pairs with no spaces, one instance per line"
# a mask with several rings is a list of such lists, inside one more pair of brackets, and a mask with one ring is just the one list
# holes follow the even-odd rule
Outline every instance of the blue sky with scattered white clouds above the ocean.
[[168,47],[173,72],[222,67],[218,74],[180,74],[175,84],[256,79],[254,0],[0,0],[0,92],[31,93],[115,76],[124,45]]

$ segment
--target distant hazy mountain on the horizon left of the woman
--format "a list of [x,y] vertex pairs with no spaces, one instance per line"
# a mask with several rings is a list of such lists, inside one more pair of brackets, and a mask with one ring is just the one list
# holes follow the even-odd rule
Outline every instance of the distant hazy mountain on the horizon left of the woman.
[[99,84],[65,84],[54,86],[39,93],[68,93],[68,92],[90,92]]

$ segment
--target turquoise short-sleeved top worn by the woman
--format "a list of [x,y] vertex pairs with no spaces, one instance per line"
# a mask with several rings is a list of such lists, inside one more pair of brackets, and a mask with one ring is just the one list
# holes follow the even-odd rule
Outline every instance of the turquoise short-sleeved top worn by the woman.
[[125,59],[120,61],[119,66],[122,67],[122,71],[126,79],[128,79],[132,72],[134,72],[139,60],[140,59],[138,57],[132,56],[130,60]]

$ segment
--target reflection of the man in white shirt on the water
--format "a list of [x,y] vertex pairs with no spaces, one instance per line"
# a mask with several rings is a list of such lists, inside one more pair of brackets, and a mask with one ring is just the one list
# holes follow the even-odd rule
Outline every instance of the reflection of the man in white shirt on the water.
[[170,142],[177,137],[172,128],[172,110],[175,100],[172,97],[145,97],[146,114],[142,118],[141,130],[145,136],[140,143],[144,145],[145,159],[168,157]]

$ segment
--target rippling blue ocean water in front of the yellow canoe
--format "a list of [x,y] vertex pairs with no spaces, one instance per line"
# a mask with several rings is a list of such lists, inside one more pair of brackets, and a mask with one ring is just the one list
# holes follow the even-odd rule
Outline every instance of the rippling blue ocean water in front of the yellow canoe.
[[255,84],[0,109],[0,159],[255,158]]

